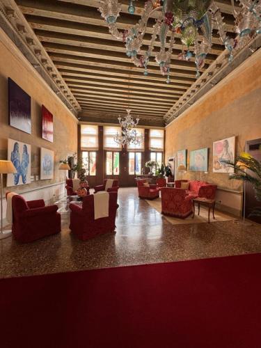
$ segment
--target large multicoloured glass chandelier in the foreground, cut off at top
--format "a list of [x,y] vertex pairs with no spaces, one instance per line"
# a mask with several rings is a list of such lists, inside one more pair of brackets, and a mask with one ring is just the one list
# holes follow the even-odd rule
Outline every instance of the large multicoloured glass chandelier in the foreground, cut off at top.
[[[119,31],[116,24],[121,8],[118,0],[101,1],[99,10],[113,38],[125,42],[127,56],[134,65],[144,68],[145,76],[148,75],[148,63],[155,42],[159,40],[160,50],[154,54],[155,60],[159,64],[161,74],[167,76],[166,82],[169,84],[175,38],[180,38],[184,47],[177,58],[189,61],[194,57],[198,78],[200,69],[205,65],[205,58],[212,47],[213,26],[218,30],[221,42],[229,52],[230,62],[233,59],[235,47],[243,46],[247,37],[251,37],[254,33],[261,33],[261,1],[237,0],[237,2],[240,10],[236,11],[234,0],[231,0],[235,31],[239,34],[236,39],[227,35],[221,10],[214,0],[148,0],[145,2],[139,22],[134,26],[128,26],[124,31]],[[129,0],[128,12],[135,13],[134,0]],[[145,45],[143,37],[150,17],[156,19],[152,28],[150,45],[143,53],[141,47]],[[192,46],[193,49],[191,49]]]

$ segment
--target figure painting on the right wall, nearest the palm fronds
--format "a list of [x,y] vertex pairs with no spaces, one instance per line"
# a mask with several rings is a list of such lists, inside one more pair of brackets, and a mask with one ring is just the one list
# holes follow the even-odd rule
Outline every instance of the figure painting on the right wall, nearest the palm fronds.
[[213,143],[213,172],[214,173],[234,173],[225,161],[235,161],[235,136],[214,141]]

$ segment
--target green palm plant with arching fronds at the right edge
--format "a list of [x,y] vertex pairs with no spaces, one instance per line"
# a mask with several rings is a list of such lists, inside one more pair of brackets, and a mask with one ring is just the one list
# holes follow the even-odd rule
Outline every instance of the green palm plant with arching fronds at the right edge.
[[[223,163],[235,168],[236,173],[230,175],[230,180],[239,180],[252,184],[255,198],[258,202],[261,202],[261,161],[258,161],[246,152],[242,152],[235,159],[235,162],[223,160]],[[255,207],[249,216],[261,216],[261,207]]]

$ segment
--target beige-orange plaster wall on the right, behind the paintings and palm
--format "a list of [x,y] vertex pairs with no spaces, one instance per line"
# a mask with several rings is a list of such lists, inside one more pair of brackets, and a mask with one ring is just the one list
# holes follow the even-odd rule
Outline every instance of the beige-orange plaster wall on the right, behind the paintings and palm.
[[[175,156],[177,150],[187,149],[189,168],[189,152],[209,148],[207,173],[187,171],[181,174],[176,171],[176,178],[206,180],[224,189],[241,191],[242,185],[229,180],[227,173],[212,171],[213,142],[230,136],[236,136],[237,155],[244,151],[246,141],[261,138],[261,52],[253,54],[166,127],[165,158]],[[221,192],[219,196],[222,196]],[[227,194],[224,199],[228,202]],[[233,206],[233,202],[228,204]],[[234,205],[238,209],[240,204],[235,202]]]

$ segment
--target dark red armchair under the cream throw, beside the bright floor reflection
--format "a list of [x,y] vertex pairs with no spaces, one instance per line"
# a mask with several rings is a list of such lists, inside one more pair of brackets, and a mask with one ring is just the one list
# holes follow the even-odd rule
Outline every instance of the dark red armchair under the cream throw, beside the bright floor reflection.
[[71,203],[70,230],[81,240],[86,240],[102,235],[107,232],[114,232],[116,212],[118,209],[117,192],[109,193],[109,216],[94,219],[94,198],[93,195],[84,197],[82,206]]

